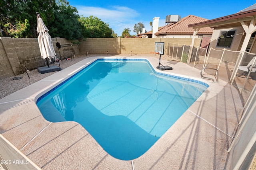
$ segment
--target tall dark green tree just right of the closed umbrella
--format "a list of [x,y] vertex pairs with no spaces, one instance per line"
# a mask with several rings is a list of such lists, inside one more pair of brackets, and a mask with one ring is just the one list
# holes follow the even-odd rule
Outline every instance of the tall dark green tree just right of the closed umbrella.
[[48,26],[50,35],[70,40],[81,38],[82,27],[78,21],[80,16],[76,8],[70,6],[66,0],[57,0],[56,4],[55,20]]

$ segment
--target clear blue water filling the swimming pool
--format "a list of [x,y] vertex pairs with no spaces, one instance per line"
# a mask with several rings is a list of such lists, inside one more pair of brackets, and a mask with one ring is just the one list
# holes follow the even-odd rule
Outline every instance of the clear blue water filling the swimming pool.
[[162,75],[146,60],[99,59],[37,100],[51,122],[80,123],[110,155],[144,154],[206,90]]

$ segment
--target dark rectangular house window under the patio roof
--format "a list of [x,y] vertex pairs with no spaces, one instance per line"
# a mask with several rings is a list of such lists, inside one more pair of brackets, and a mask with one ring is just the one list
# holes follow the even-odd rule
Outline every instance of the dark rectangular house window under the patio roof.
[[235,30],[233,31],[222,31],[220,32],[220,37],[218,38],[217,47],[230,47],[232,40],[234,38]]

